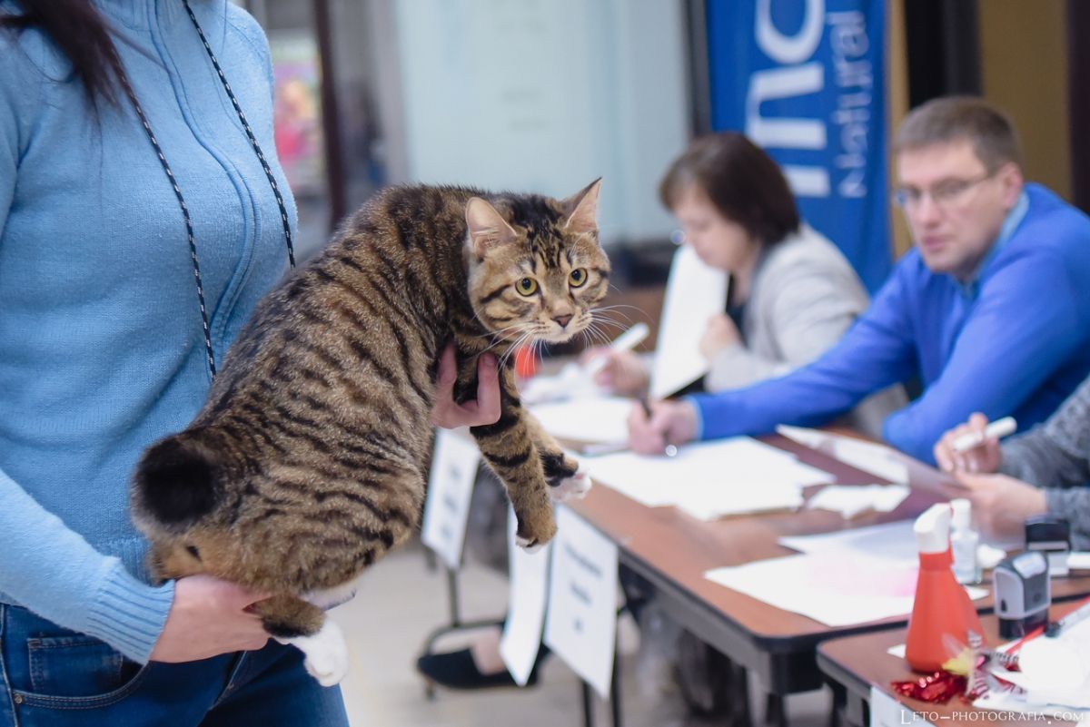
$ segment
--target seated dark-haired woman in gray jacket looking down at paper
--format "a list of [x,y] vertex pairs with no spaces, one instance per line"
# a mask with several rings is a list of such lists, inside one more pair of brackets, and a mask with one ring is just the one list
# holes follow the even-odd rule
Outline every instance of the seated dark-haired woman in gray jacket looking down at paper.
[[[831,348],[869,305],[840,251],[799,218],[787,180],[743,135],[694,139],[667,170],[659,198],[681,224],[682,242],[707,266],[730,275],[724,315],[701,341],[704,386],[723,391],[783,375]],[[642,359],[607,353],[600,384],[620,394],[647,385]],[[881,434],[882,421],[905,403],[900,389],[880,393],[849,422]]]

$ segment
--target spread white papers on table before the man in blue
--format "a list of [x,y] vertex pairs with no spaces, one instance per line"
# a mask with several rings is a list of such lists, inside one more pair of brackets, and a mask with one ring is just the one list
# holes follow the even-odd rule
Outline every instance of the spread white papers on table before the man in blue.
[[748,436],[681,447],[676,457],[633,453],[584,459],[591,477],[650,507],[715,519],[802,504],[802,488],[833,477]]

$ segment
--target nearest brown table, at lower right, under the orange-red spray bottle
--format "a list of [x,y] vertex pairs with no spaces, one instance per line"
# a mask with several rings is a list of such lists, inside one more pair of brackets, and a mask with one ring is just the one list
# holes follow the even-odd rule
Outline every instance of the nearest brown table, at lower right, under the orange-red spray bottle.
[[[1053,582],[1056,581],[1053,580]],[[1071,608],[1071,604],[1053,606],[1050,613],[1053,618],[1056,618]],[[983,616],[980,624],[984,628],[990,644],[1002,643],[1003,640],[998,636],[998,619],[995,616]],[[818,646],[818,665],[833,687],[837,712],[852,727],[865,727],[870,724],[872,685],[886,694],[894,695],[889,686],[892,681],[906,681],[917,676],[909,669],[904,658],[886,653],[892,646],[905,643],[905,631],[904,628],[897,628],[845,639],[833,639]],[[907,708],[924,713],[932,724],[942,724],[944,727],[947,725],[959,727],[960,725],[982,724],[1024,726],[1034,722],[1030,717],[1009,720],[996,719],[997,716],[1005,715],[988,710],[977,710],[959,698],[954,698],[946,704],[929,704],[899,695],[896,695],[896,699]],[[913,724],[916,720],[906,716],[901,722],[903,724]],[[1071,725],[1075,723],[1050,718],[1046,724]]]

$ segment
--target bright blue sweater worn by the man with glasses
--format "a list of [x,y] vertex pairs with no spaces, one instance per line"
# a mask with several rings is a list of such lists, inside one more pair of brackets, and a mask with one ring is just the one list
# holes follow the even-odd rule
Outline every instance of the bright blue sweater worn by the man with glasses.
[[[1026,209],[967,287],[917,250],[870,309],[813,364],[772,381],[692,397],[701,435],[818,426],[870,393],[919,377],[921,396],[894,412],[885,439],[933,461],[932,447],[973,411],[1042,421],[1090,371],[1090,219],[1037,184]],[[1009,215],[1008,215],[1009,219]]]

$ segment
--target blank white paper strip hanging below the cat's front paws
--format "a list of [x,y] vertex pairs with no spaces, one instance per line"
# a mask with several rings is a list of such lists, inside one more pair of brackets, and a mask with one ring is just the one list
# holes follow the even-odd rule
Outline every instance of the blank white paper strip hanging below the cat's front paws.
[[514,544],[514,510],[507,512],[507,552],[511,566],[507,601],[507,621],[499,640],[499,655],[520,687],[526,685],[537,658],[545,625],[545,599],[548,583],[548,562],[553,543],[536,553]]

